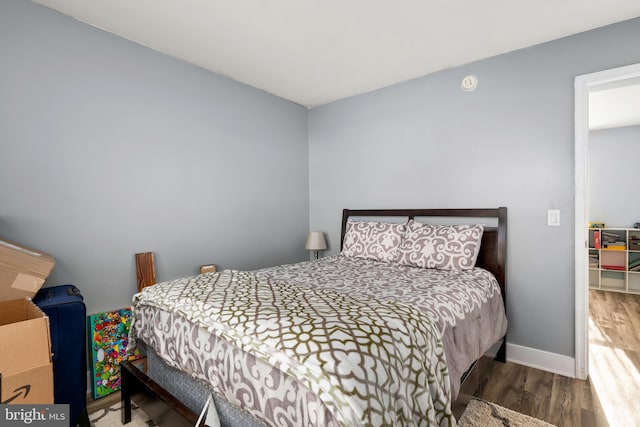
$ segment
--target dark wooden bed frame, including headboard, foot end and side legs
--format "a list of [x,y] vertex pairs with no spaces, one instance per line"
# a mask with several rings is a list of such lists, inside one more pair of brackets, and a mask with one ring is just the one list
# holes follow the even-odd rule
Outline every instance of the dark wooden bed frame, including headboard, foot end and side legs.
[[[378,218],[383,217],[404,217],[408,219],[416,219],[418,221],[423,217],[441,217],[441,218],[493,218],[498,220],[497,227],[485,227],[482,236],[482,245],[480,253],[476,261],[476,266],[485,268],[490,271],[498,280],[502,292],[503,301],[506,309],[506,255],[507,255],[507,208],[500,207],[495,209],[344,209],[342,213],[342,233],[340,237],[340,249],[342,250],[342,242],[346,232],[347,221],[349,218]],[[424,220],[423,220],[424,221]],[[454,223],[456,221],[450,221]],[[501,362],[506,361],[506,335],[502,340],[502,344],[496,354],[495,359]],[[473,369],[471,367],[463,376]],[[184,425],[193,425],[197,419],[197,414],[187,408],[178,401],[171,393],[163,389],[152,378],[148,377],[144,371],[133,366],[130,362],[122,362],[121,371],[123,374],[122,382],[122,423],[125,424],[131,420],[131,397],[145,395],[148,401],[155,402],[157,406],[161,403],[161,409],[158,417],[171,417],[178,415],[178,418],[185,421]],[[148,413],[156,413],[147,405],[141,405],[142,409],[149,411]],[[151,405],[153,407],[153,405]],[[168,415],[167,415],[168,414]],[[155,419],[155,418],[154,418]],[[160,423],[161,425],[163,423]],[[166,425],[178,425],[176,419],[173,418]]]

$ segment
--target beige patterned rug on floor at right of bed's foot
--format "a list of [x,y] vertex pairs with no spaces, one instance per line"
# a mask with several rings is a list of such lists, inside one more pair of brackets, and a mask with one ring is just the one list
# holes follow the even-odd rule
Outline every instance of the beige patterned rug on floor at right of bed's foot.
[[459,427],[553,427],[537,418],[503,408],[495,403],[471,399],[462,413]]

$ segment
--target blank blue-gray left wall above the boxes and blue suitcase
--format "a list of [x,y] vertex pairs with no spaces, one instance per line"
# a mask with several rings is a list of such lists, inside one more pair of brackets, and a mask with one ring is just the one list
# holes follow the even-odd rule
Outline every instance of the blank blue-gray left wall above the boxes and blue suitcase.
[[89,312],[157,277],[308,259],[307,110],[79,23],[0,2],[0,238],[51,253]]

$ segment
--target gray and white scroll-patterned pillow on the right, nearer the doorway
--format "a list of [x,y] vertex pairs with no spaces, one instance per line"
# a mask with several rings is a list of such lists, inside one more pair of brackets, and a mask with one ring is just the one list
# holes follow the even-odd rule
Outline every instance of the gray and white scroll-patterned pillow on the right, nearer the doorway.
[[469,270],[476,264],[484,225],[429,225],[409,220],[399,263],[438,270]]

